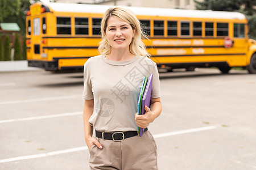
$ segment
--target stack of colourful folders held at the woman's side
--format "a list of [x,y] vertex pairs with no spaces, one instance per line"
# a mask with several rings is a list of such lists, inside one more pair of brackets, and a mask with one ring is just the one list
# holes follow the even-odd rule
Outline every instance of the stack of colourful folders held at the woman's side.
[[[147,75],[146,78],[143,77],[141,93],[139,94],[139,100],[138,100],[138,114],[145,113],[145,109],[144,109],[145,105],[148,108],[150,107],[152,80],[153,80],[152,73],[149,76]],[[144,128],[138,128],[138,132],[139,132],[139,136],[142,137],[144,133]]]

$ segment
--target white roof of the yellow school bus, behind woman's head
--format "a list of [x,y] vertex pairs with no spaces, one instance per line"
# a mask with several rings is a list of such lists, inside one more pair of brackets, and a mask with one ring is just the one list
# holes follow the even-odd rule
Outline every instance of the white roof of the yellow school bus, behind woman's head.
[[[86,12],[104,14],[104,12],[113,6],[105,5],[86,5],[77,3],[46,3],[56,12]],[[239,12],[212,11],[212,10],[180,10],[173,8],[148,8],[148,7],[127,7],[135,15],[149,16],[171,16],[184,18],[209,18],[209,19],[238,19],[245,20],[246,16]]]

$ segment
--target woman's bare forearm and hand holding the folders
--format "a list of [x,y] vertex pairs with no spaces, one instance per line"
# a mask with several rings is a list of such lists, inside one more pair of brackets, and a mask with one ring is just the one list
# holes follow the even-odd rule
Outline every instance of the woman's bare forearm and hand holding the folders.
[[162,104],[160,97],[151,98],[150,108],[145,105],[145,113],[142,115],[135,115],[136,124],[139,128],[147,128],[147,126],[152,123],[162,112]]

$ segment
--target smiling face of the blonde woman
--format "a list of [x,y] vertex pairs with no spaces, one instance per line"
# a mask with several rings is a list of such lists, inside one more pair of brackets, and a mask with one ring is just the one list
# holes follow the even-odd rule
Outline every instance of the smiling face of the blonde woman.
[[129,50],[135,29],[124,20],[110,16],[104,32],[112,50]]

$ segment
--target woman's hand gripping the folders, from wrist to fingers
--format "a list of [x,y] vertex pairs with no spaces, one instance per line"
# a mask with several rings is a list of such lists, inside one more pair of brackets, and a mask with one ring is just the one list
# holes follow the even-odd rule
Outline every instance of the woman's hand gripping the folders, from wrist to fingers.
[[153,112],[150,111],[150,108],[148,108],[145,105],[145,113],[138,115],[138,113],[135,114],[135,122],[139,128],[147,128],[147,126],[155,120],[155,116]]

